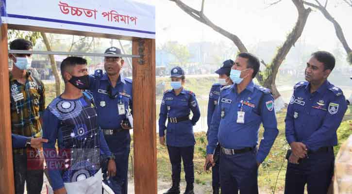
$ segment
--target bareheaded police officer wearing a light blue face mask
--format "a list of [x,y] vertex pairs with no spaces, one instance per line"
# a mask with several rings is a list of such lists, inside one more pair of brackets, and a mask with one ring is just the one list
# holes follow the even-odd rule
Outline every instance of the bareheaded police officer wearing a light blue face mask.
[[[267,88],[252,79],[259,60],[250,53],[238,54],[230,78],[233,85],[221,89],[208,135],[205,166],[214,165],[213,154],[220,144],[220,185],[222,194],[258,194],[258,167],[268,156],[278,134],[274,99]],[[264,138],[258,145],[260,124]]]

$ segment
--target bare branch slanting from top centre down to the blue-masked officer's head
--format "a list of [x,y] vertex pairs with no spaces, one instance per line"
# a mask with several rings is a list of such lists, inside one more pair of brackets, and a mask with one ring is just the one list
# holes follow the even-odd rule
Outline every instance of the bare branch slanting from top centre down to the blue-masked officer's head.
[[247,48],[242,43],[242,41],[238,38],[238,36],[220,28],[217,25],[215,25],[212,21],[210,21],[208,19],[207,16],[204,15],[204,13],[189,7],[188,5],[184,4],[184,2],[182,2],[181,0],[170,0],[170,1],[175,2],[176,5],[179,6],[189,16],[192,16],[193,18],[197,19],[201,23],[211,27],[216,32],[218,32],[218,33],[224,35],[225,37],[229,38],[230,40],[232,40],[240,52],[247,52],[248,51]]

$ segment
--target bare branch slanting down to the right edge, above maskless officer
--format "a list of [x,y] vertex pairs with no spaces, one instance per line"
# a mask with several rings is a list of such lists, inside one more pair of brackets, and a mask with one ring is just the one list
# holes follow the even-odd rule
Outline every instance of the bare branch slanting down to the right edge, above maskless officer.
[[318,0],[315,0],[315,1],[318,3],[318,5],[307,2],[307,1],[303,1],[303,3],[318,9],[327,20],[329,20],[331,23],[333,23],[338,40],[341,42],[341,44],[342,44],[343,48],[345,49],[345,51],[347,52],[347,54],[350,54],[352,52],[352,49],[350,48],[350,46],[348,45],[348,43],[346,41],[345,35],[342,31],[340,24],[335,20],[335,18],[333,16],[331,16],[331,14],[328,12],[328,10],[319,3]]

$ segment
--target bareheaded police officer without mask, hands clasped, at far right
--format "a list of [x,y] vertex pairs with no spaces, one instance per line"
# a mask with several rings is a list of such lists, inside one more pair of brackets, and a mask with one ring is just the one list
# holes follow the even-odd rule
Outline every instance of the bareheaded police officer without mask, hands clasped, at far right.
[[291,146],[285,194],[326,194],[334,173],[336,130],[346,112],[340,88],[327,78],[335,67],[334,56],[314,52],[305,68],[305,80],[295,85],[285,119],[286,140]]

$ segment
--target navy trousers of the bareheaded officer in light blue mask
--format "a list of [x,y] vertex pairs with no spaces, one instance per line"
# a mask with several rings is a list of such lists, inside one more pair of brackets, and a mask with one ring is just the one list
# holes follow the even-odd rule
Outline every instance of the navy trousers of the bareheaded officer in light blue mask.
[[221,194],[258,194],[256,151],[225,155],[220,151]]

